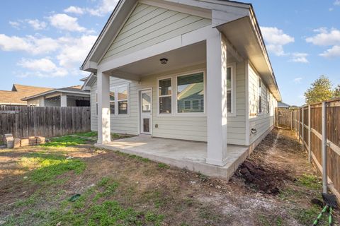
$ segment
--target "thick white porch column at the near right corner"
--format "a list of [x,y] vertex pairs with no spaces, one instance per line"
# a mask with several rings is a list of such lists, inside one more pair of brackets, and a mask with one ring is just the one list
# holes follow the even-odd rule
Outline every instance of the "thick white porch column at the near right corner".
[[222,34],[207,39],[207,163],[227,160],[227,46]]

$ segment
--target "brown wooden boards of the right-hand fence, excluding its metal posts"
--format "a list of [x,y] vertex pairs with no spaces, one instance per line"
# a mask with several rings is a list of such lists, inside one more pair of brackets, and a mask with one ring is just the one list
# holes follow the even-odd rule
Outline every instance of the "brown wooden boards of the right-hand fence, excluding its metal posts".
[[[288,119],[289,114],[280,114],[281,109],[276,109],[276,121],[280,128],[289,128]],[[293,130],[299,133],[302,141],[302,128],[304,132],[303,141],[305,143],[305,150],[310,149],[314,155],[313,160],[316,165],[322,167],[322,105],[310,105],[310,125],[308,124],[308,107],[301,107],[299,109],[290,109],[290,114],[293,116]],[[302,111],[304,112],[304,119],[302,121]],[[299,117],[300,114],[300,117]],[[339,196],[340,191],[340,100],[331,100],[327,102],[327,174],[334,189]],[[285,119],[282,119],[285,117]],[[308,129],[311,128],[310,147],[308,146]],[[298,135],[297,135],[298,136]],[[319,170],[322,170],[319,168]],[[338,197],[339,198],[339,197]]]

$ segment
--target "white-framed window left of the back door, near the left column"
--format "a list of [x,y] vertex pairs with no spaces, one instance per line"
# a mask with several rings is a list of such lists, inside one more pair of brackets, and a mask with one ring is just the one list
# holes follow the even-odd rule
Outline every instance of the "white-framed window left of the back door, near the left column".
[[130,84],[110,88],[110,114],[111,116],[129,115]]

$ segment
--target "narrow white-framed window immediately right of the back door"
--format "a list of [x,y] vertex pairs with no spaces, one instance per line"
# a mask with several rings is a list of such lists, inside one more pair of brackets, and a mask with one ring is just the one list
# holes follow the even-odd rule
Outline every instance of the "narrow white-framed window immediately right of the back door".
[[157,82],[158,86],[158,113],[172,113],[172,78],[162,78]]

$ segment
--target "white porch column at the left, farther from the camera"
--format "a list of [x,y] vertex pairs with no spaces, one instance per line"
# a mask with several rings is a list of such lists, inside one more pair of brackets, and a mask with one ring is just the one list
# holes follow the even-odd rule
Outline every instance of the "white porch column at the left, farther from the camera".
[[110,124],[110,76],[97,72],[98,90],[98,141],[99,144],[111,142]]

